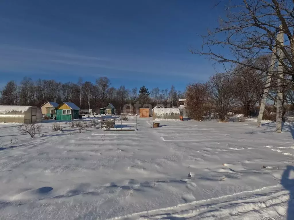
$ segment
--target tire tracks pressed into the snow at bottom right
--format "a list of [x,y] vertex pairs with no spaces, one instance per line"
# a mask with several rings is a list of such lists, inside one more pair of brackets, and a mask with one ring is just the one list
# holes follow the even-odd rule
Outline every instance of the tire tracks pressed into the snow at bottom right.
[[[193,207],[194,205],[201,204],[201,203],[206,203],[207,204],[207,202],[211,202],[211,201],[214,201],[214,200],[218,201],[218,200],[221,200],[221,199],[227,199],[227,198],[235,197],[237,195],[242,195],[242,194],[247,194],[247,196],[250,196],[250,195],[251,196],[254,196],[254,195],[252,195],[253,193],[261,192],[261,191],[263,191],[265,189],[272,189],[272,188],[281,187],[281,186],[282,185],[277,184],[277,185],[273,185],[273,186],[262,187],[260,189],[248,190],[248,191],[243,191],[243,192],[236,192],[236,193],[233,193],[233,194],[224,195],[224,196],[220,196],[220,197],[214,197],[214,198],[210,198],[210,199],[202,199],[202,200],[196,200],[196,201],[193,201],[193,202],[182,203],[182,204],[178,204],[176,206],[171,206],[171,207],[166,207],[166,208],[160,208],[160,209],[153,209],[153,210],[148,210],[148,211],[141,211],[141,212],[136,212],[136,213],[133,213],[133,214],[127,214],[127,215],[124,215],[124,216],[117,216],[117,217],[113,217],[113,218],[110,218],[110,219],[107,219],[107,220],[125,219],[125,218],[132,218],[132,217],[138,217],[138,216],[142,216],[143,218],[146,218],[146,219],[151,219],[152,217],[154,219],[159,219],[159,218],[166,217],[166,216],[193,217],[193,216],[196,216],[197,214],[199,214],[199,210],[198,211],[195,211],[193,209],[199,209],[199,208],[201,209],[201,207]],[[288,201],[288,199],[289,199],[289,193],[288,193],[287,190],[278,189],[278,192],[277,193],[275,191],[273,191],[271,193],[274,196],[273,197],[268,196],[269,197],[268,200],[272,201],[272,202],[269,202],[269,203],[272,203],[272,204],[269,204],[269,205],[274,205],[275,204],[275,199],[274,198],[282,197],[280,199],[277,199],[278,202],[276,202],[276,204],[278,204],[279,201],[280,202],[283,202],[283,201],[285,202],[285,201]],[[258,203],[257,206],[266,207],[265,203],[262,202],[262,201],[264,201],[264,198],[262,198],[262,199],[260,199],[258,197],[255,197],[255,198],[258,200],[258,201],[256,201]],[[253,199],[253,198],[250,198],[250,199]],[[219,207],[221,206],[221,204],[225,204],[225,205],[229,205],[229,204],[232,204],[232,205],[233,204],[242,204],[242,203],[245,203],[246,204],[246,201],[248,202],[249,199],[245,198],[245,199],[243,199],[243,202],[241,202],[241,203],[238,202],[240,200],[242,200],[242,198],[239,199],[239,200],[233,200],[232,202],[231,201],[228,201],[228,202],[218,203],[216,205],[214,204],[212,206],[211,205],[210,206],[205,206],[207,208],[204,207],[204,209],[205,210],[208,210],[209,207],[211,207],[211,208],[216,207],[216,209],[219,209]],[[253,210],[255,208],[255,206],[254,205],[251,205],[251,206],[249,205],[249,207],[247,206],[247,209],[248,208],[249,208],[249,210],[247,210],[247,211],[251,211],[251,210]],[[171,211],[173,211],[173,210],[180,210],[180,211],[183,211],[184,213],[183,214],[180,214],[179,213],[180,211],[177,211],[176,213],[178,213],[178,214],[175,213],[173,215],[173,214],[171,214]],[[211,209],[209,209],[209,210],[211,210]],[[241,207],[238,210],[240,210],[240,212],[243,212],[244,208]],[[163,213],[162,214],[155,215],[158,212],[163,212]],[[235,211],[232,210],[232,212],[235,212]],[[227,216],[231,216],[231,214],[232,214],[232,213],[228,213],[228,212],[225,212],[225,213],[227,214]],[[151,215],[151,214],[153,214],[153,215]],[[148,216],[146,216],[146,215],[148,215]]]

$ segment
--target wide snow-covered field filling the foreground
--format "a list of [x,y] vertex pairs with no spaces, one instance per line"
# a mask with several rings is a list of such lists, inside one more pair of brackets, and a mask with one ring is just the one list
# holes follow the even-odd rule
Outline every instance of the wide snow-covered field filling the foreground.
[[157,122],[34,139],[0,124],[0,219],[294,219],[293,124]]

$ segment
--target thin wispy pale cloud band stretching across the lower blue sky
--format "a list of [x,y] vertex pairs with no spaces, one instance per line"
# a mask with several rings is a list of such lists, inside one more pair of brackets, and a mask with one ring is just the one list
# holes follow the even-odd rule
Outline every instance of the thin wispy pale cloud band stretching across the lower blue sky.
[[[197,65],[183,60],[158,60],[144,57],[103,57],[75,53],[75,51],[52,51],[0,45],[1,72],[64,72],[64,75],[99,75],[101,70],[112,70],[110,77],[123,78],[126,74],[148,74],[149,76],[199,78],[206,75]],[[207,68],[209,69],[209,68]],[[122,75],[122,72],[123,75]],[[143,75],[142,75],[143,76]]]

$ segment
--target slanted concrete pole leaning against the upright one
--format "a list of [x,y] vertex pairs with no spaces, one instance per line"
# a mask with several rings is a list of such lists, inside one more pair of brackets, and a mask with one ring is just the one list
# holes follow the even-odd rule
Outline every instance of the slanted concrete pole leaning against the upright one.
[[[275,48],[274,48],[275,50]],[[268,68],[268,76],[265,81],[265,88],[263,90],[263,97],[261,100],[260,108],[259,108],[259,114],[258,114],[258,120],[257,120],[257,126],[259,127],[261,124],[262,116],[263,116],[263,111],[265,107],[265,101],[266,97],[268,96],[268,90],[270,89],[270,81],[272,80],[272,72],[274,69],[275,65],[275,54],[273,53],[271,58],[270,58],[270,67]]]

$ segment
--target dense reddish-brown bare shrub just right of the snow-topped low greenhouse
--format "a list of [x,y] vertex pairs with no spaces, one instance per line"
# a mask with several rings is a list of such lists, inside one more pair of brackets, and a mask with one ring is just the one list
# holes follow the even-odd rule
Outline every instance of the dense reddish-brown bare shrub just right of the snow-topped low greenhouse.
[[208,84],[195,83],[186,87],[187,110],[190,118],[202,121],[210,109],[208,103]]

